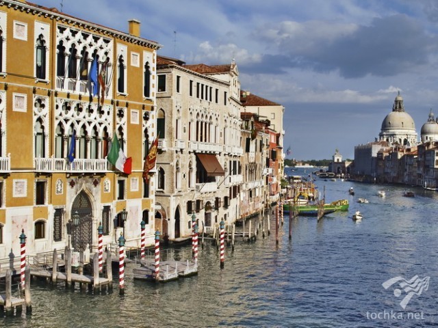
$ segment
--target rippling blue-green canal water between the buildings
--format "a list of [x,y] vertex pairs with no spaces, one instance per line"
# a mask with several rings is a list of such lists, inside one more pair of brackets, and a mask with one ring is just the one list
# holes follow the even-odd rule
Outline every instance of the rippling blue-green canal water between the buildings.
[[[0,327],[438,326],[438,192],[409,188],[410,198],[406,187],[317,184],[328,202],[348,199],[348,212],[293,219],[291,241],[285,215],[278,245],[271,215],[269,236],[226,247],[224,269],[207,244],[198,275],[175,282],[133,281],[128,264],[124,296],[117,277],[103,295],[32,284],[32,314],[0,318]],[[190,247],[181,249],[190,255]]]

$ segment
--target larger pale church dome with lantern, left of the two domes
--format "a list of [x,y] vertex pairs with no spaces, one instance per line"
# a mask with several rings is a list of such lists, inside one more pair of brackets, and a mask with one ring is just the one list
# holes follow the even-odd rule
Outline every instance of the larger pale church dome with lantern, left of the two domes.
[[417,144],[417,131],[413,118],[404,111],[403,98],[400,91],[394,100],[391,113],[386,115],[382,122],[379,141],[388,141],[390,144],[398,143],[400,146],[415,146]]

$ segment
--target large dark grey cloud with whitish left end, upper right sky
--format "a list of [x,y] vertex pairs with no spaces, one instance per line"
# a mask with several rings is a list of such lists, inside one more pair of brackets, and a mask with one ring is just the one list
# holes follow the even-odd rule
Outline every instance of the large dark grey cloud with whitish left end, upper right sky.
[[[266,26],[256,34],[281,54],[263,55],[266,70],[337,70],[347,79],[367,75],[394,77],[410,72],[430,64],[432,57],[428,54],[437,50],[436,37],[403,14],[374,18],[368,26],[283,22]],[[257,66],[252,69],[260,71]]]

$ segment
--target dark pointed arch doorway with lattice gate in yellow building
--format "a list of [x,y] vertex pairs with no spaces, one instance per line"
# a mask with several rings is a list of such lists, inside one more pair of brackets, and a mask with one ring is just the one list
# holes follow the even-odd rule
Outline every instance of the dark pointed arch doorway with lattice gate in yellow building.
[[87,245],[91,248],[93,241],[92,233],[92,206],[90,197],[85,191],[81,191],[73,201],[71,208],[73,224],[71,230],[71,245],[75,251],[83,251]]

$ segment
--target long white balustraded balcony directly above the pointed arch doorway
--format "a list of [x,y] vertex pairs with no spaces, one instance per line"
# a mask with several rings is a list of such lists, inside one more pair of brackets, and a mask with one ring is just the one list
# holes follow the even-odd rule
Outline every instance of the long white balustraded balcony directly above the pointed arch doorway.
[[38,158],[34,159],[35,172],[107,172],[107,159],[75,159],[70,163],[66,159]]

